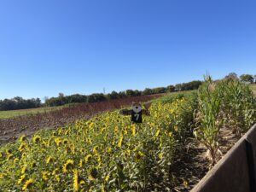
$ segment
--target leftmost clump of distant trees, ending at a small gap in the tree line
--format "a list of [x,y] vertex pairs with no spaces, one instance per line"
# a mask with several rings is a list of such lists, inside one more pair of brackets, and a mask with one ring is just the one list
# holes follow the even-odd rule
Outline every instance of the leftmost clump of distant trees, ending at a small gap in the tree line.
[[23,99],[15,96],[13,99],[0,100],[0,111],[23,109],[23,108],[39,108],[42,106],[39,98]]

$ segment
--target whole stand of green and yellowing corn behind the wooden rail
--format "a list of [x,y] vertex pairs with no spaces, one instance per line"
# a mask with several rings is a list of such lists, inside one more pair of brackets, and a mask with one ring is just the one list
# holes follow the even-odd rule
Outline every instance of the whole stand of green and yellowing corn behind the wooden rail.
[[208,149],[214,166],[222,156],[220,130],[227,129],[241,137],[256,122],[256,99],[249,86],[239,80],[214,82],[208,76],[198,90],[198,96],[194,134]]

